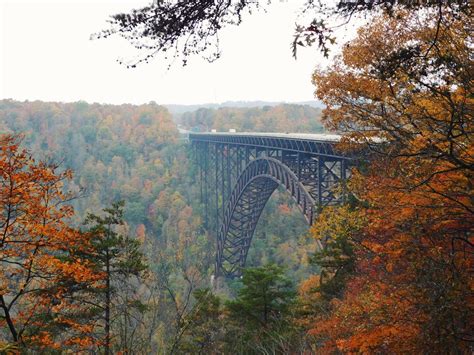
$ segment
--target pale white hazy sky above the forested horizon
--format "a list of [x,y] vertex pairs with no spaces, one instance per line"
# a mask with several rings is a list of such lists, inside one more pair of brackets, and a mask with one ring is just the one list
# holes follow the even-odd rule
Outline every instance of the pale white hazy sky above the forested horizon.
[[94,40],[109,15],[147,5],[144,0],[0,0],[1,98],[100,103],[208,103],[228,100],[313,99],[311,73],[322,56],[290,43],[300,0],[276,2],[246,16],[220,37],[222,57],[193,57],[167,70],[157,60],[136,69],[116,62],[131,57],[121,39]]

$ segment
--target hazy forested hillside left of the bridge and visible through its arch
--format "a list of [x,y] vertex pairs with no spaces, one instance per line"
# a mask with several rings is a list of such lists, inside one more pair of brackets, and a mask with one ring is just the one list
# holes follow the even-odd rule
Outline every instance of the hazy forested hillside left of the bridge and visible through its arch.
[[[127,324],[120,319],[113,328],[129,327],[135,336],[121,341],[146,351],[177,346],[183,319],[195,302],[192,293],[210,287],[215,243],[202,227],[189,146],[170,113],[156,104],[4,100],[0,133],[20,134],[21,147],[35,159],[58,163],[58,171],[71,169],[65,189],[75,196],[69,201],[75,208],[70,216],[74,226],[84,229],[87,214],[101,215],[103,208],[124,201],[119,230],[141,243],[149,265],[137,285],[146,311],[128,310],[139,320]],[[292,279],[304,279],[316,247],[306,235],[306,223],[292,200],[275,192],[255,233],[249,266],[275,262],[285,265]],[[217,292],[228,298],[239,288],[239,282],[231,282],[220,284]],[[123,346],[115,344],[114,349]]]

